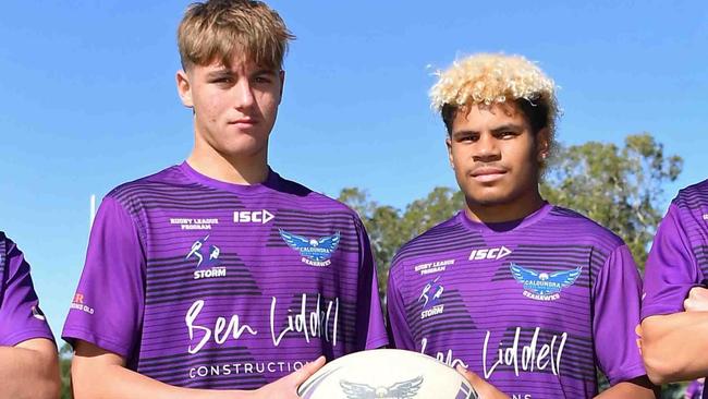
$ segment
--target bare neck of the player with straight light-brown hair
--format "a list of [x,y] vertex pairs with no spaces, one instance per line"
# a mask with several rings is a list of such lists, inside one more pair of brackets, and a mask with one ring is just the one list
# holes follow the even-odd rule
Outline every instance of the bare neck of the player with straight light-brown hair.
[[211,179],[233,184],[258,184],[268,179],[268,153],[227,156],[209,145],[196,143],[187,164]]

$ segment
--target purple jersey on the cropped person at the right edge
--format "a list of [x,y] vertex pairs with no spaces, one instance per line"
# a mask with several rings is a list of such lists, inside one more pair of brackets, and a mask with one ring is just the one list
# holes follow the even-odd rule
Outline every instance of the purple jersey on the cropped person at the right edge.
[[[679,192],[659,225],[644,274],[642,318],[683,312],[708,278],[708,180]],[[704,392],[708,398],[708,390]]]

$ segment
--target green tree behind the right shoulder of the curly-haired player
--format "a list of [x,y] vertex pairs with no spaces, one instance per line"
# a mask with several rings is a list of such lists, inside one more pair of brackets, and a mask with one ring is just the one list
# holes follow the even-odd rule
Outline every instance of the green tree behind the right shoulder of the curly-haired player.
[[541,194],[623,238],[644,269],[663,216],[663,186],[676,180],[682,167],[681,157],[666,156],[663,145],[648,133],[627,136],[622,147],[598,142],[561,146],[551,159]]

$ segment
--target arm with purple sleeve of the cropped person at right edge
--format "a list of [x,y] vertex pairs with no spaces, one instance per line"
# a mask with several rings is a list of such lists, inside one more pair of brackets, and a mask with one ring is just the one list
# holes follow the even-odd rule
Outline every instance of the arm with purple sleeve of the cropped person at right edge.
[[[656,384],[708,375],[700,355],[708,332],[699,271],[681,210],[671,205],[647,258],[642,306],[642,355]],[[684,311],[689,312],[684,312]]]

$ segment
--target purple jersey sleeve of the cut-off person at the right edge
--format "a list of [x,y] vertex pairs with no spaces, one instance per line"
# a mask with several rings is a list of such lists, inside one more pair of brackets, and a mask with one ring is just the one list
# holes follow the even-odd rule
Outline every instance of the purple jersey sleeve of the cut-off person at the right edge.
[[680,210],[672,204],[659,225],[647,258],[642,318],[683,312],[683,301],[700,279]]

